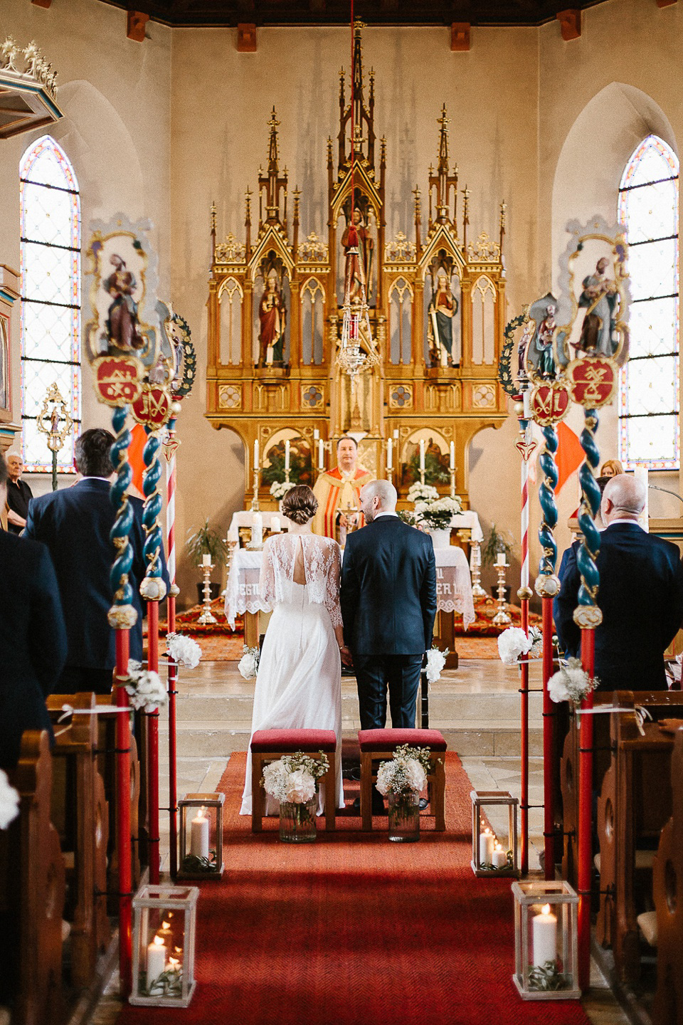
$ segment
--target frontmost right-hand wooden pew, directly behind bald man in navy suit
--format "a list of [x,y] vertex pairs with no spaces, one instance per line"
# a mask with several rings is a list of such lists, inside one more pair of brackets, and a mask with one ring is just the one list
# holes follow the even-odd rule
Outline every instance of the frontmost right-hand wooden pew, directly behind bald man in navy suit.
[[[625,702],[629,707],[643,705],[655,719],[683,713],[683,693],[681,691],[615,691],[598,693],[594,696],[594,706]],[[559,765],[559,788],[562,795],[562,833],[564,836],[562,855],[562,878],[577,887],[578,869],[578,828],[579,828],[579,720],[570,712],[569,729],[564,738],[562,757]],[[609,716],[598,714],[593,723],[593,789],[599,792],[605,772],[610,764]]]

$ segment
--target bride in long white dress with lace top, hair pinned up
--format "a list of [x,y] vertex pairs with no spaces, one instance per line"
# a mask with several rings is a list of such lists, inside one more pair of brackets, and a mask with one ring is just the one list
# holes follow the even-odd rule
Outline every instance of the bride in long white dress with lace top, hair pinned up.
[[[295,487],[283,499],[292,526],[263,545],[259,591],[273,610],[263,641],[254,690],[256,730],[334,730],[337,735],[337,807],[344,807],[341,775],[341,662],[344,648],[339,608],[339,545],[311,533],[317,499]],[[251,747],[251,738],[250,738]],[[325,809],[321,786],[317,814]],[[251,815],[251,758],[247,757],[241,815]],[[265,795],[266,815],[279,804]]]

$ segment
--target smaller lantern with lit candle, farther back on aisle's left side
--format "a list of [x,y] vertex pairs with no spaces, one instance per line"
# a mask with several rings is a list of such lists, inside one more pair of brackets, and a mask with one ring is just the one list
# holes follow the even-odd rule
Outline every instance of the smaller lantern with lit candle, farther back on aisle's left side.
[[223,873],[224,793],[186,793],[180,809],[178,879],[219,879]]

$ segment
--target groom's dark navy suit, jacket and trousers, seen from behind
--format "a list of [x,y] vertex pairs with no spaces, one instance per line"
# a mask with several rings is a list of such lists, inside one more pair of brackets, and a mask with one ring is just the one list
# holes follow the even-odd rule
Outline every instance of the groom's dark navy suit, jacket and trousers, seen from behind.
[[415,726],[425,651],[436,615],[431,537],[396,516],[380,516],[346,538],[341,574],[344,641],[358,687],[360,728]]

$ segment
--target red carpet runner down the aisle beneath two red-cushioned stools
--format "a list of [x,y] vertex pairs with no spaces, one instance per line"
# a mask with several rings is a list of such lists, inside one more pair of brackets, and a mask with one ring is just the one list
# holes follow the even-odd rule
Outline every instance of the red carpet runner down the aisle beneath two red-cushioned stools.
[[[225,790],[226,872],[203,884],[195,998],[124,1009],[119,1025],[588,1025],[574,1001],[522,1001],[513,983],[509,879],[470,869],[471,784],[446,764],[446,831],[389,844],[337,820],[315,844],[280,844],[274,819],[240,817],[245,755]],[[318,820],[321,821],[321,820]]]

